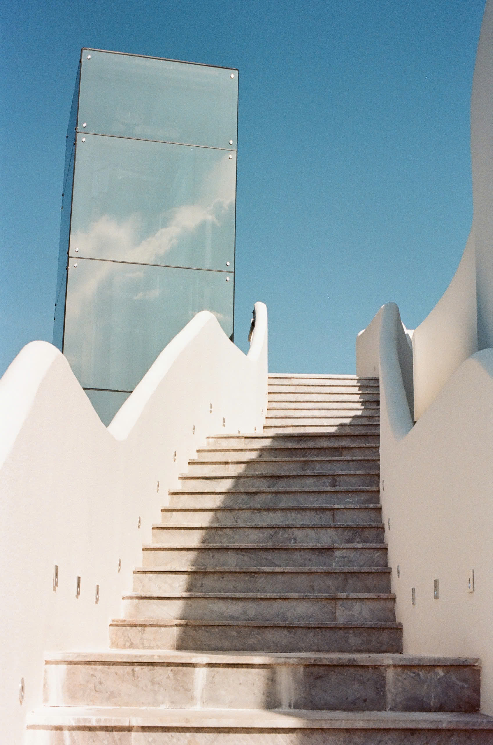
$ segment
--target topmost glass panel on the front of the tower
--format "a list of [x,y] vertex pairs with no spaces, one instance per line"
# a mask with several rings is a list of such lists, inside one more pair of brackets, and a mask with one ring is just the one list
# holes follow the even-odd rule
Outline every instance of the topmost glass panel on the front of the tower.
[[236,70],[84,49],[81,77],[79,130],[236,148]]

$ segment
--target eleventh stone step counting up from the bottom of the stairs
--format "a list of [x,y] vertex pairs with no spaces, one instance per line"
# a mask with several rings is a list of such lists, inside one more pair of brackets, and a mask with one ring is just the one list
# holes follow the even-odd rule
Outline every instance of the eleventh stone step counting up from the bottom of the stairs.
[[188,476],[199,475],[238,475],[238,474],[277,474],[277,473],[341,473],[341,472],[370,472],[379,469],[378,457],[346,457],[346,458],[309,458],[297,457],[282,460],[274,458],[268,460],[189,460]]

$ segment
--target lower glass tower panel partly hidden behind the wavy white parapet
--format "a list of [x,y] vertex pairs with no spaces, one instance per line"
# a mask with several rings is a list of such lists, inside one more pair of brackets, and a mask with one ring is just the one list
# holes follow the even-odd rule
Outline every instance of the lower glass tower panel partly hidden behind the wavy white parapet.
[[133,390],[203,309],[231,336],[233,275],[70,259],[63,352],[83,387]]

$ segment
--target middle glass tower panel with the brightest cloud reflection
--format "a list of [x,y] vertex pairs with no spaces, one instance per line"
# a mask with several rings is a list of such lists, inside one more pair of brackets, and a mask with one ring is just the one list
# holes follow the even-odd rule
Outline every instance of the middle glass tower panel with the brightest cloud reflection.
[[235,195],[236,152],[79,133],[71,256],[233,270]]

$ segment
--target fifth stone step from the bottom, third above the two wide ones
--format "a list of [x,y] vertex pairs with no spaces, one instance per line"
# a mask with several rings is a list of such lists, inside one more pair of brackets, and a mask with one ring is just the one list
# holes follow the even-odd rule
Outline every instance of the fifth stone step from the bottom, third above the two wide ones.
[[388,567],[139,567],[134,592],[390,592]]

